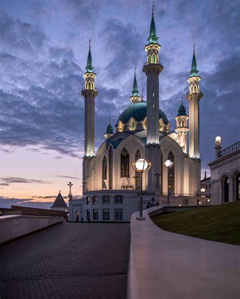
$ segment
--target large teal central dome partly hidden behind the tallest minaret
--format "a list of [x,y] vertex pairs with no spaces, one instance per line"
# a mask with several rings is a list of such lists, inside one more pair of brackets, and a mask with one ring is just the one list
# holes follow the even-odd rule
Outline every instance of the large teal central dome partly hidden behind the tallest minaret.
[[[136,121],[140,122],[146,116],[147,116],[147,102],[141,101],[133,105],[130,105],[128,108],[126,108],[118,117],[117,123],[118,121],[121,121],[122,123],[126,124],[131,117],[134,117]],[[168,118],[161,109],[159,109],[159,119],[160,118],[162,118],[164,123],[167,125]]]

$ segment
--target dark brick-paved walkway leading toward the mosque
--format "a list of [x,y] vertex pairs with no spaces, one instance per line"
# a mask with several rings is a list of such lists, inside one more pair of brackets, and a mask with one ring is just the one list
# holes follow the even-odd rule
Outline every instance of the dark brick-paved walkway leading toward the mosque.
[[0,248],[0,298],[124,299],[130,225],[63,223]]

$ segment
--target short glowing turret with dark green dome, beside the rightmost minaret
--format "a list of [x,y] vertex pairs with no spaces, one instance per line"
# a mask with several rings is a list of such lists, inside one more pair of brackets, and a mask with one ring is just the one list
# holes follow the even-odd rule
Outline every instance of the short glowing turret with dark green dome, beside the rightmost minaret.
[[187,120],[188,116],[186,115],[186,109],[181,103],[181,106],[178,108],[178,115],[176,119],[176,129],[177,132],[177,143],[181,146],[183,153],[187,154]]

